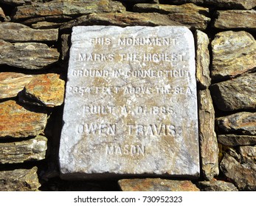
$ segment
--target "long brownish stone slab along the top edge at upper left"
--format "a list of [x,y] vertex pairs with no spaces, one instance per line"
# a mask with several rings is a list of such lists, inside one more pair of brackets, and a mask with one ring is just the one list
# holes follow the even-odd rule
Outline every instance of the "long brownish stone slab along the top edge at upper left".
[[13,21],[49,15],[86,15],[89,13],[123,12],[125,7],[118,1],[49,1],[16,7]]

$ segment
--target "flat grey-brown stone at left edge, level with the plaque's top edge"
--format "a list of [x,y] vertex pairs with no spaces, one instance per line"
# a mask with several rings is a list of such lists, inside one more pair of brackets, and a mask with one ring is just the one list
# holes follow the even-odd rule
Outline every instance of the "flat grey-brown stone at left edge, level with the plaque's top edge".
[[57,41],[58,29],[31,29],[23,24],[4,22],[0,24],[0,39],[10,42]]

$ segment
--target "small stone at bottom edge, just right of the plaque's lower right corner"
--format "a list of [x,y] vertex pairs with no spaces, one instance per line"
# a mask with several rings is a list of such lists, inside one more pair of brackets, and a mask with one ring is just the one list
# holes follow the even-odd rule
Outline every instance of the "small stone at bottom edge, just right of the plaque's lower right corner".
[[221,180],[198,182],[197,186],[200,188],[200,191],[238,191],[238,188],[231,182]]

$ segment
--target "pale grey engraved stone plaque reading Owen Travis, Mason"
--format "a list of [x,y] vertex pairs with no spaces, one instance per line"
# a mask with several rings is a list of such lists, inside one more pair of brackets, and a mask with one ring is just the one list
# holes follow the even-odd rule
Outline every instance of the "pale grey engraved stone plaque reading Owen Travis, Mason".
[[199,175],[193,35],[184,26],[76,26],[60,171]]

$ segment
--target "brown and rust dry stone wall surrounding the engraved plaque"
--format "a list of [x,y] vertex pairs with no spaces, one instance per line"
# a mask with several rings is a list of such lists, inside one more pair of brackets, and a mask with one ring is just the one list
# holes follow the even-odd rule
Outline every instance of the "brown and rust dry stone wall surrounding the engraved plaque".
[[[0,191],[255,191],[256,0],[0,0]],[[73,26],[187,26],[201,175],[61,180]]]

